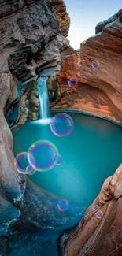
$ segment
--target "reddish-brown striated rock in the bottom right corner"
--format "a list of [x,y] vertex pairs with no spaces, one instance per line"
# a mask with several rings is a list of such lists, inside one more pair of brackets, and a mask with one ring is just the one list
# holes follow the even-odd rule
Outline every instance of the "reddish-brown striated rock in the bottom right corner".
[[[75,232],[62,237],[65,256],[120,256],[122,254],[122,165],[105,180]],[[103,217],[98,218],[98,211]],[[70,234],[71,233],[71,234]],[[62,247],[63,248],[63,247]]]

